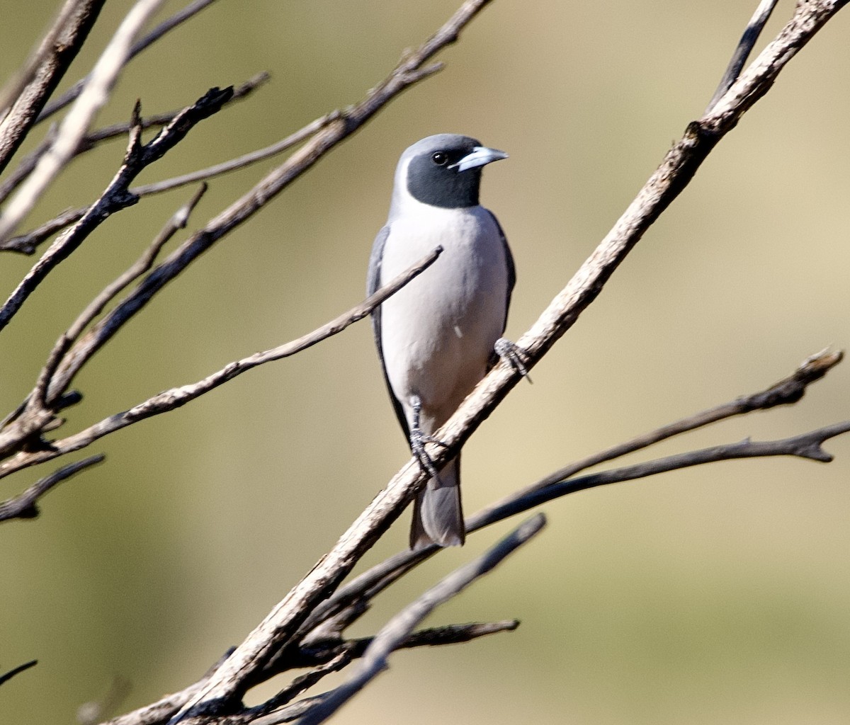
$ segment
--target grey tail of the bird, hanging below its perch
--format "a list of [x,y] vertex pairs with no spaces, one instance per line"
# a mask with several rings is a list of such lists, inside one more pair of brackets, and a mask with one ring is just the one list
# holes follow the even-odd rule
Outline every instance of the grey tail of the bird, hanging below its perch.
[[411,549],[434,543],[462,547],[466,539],[461,507],[461,456],[448,462],[439,479],[428,479],[416,496],[411,525]]

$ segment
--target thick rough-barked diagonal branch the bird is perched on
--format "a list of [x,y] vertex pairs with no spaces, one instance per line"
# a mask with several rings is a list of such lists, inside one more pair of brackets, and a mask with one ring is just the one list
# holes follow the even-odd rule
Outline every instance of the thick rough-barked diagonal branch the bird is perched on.
[[[768,44],[747,71],[734,82],[715,110],[689,125],[683,139],[668,152],[661,166],[649,178],[638,197],[632,201],[591,258],[581,266],[564,291],[555,297],[530,331],[519,339],[519,347],[524,348],[529,367],[540,360],[575,323],[646,229],[649,229],[660,213],[693,178],[717,142],[734,127],[745,111],[768,91],[785,64],[843,4],[844,2],[837,0],[799,3],[794,16],[780,31],[779,36]],[[462,17],[468,9],[470,5],[466,3],[456,18]],[[426,43],[425,48],[434,48],[434,39],[440,36],[440,32]],[[433,52],[435,50],[430,54]],[[314,142],[321,143],[332,133],[331,125],[326,131],[318,134]],[[309,153],[311,147],[312,144],[308,144],[301,154]],[[275,189],[278,187],[279,181],[275,181]],[[231,213],[224,212],[216,221],[227,224],[226,220]],[[435,433],[436,438],[447,444],[445,447],[429,446],[428,455],[435,467],[456,456],[469,435],[495,409],[518,380],[518,373],[508,365],[499,364],[490,371],[473,393],[467,396],[450,421]],[[190,700],[183,712],[194,716],[205,711],[207,707],[226,705],[239,698],[244,683],[251,677],[252,672],[262,668],[270,656],[284,643],[291,641],[309,611],[348,575],[360,556],[377,541],[377,537],[411,501],[426,476],[415,461],[408,462],[390,481],[387,489],[378,494],[348,528],[331,552],[321,558],[286,598],[272,609],[246,641],[224,662],[201,694]]]

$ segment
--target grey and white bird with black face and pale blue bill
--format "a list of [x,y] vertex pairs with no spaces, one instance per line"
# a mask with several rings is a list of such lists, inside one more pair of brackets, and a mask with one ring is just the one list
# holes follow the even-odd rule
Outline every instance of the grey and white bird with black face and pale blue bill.
[[479,204],[481,172],[507,158],[478,140],[439,133],[399,158],[387,224],[369,259],[372,294],[436,246],[436,262],[371,314],[384,381],[411,452],[431,474],[413,506],[410,547],[462,546],[458,454],[439,471],[424,445],[499,358],[525,374],[501,337],[516,282],[493,212]]

